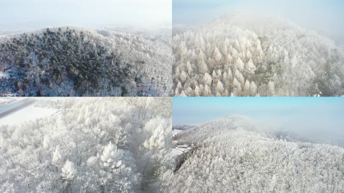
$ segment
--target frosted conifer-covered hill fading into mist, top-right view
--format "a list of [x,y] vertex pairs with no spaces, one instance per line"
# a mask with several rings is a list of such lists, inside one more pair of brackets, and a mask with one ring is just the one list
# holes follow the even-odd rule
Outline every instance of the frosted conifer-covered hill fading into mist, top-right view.
[[344,48],[290,21],[236,12],[173,30],[176,96],[338,96]]

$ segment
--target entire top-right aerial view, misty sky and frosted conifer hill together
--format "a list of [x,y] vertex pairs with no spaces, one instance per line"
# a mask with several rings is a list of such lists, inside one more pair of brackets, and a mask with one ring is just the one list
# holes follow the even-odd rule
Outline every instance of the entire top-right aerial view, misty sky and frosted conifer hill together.
[[175,2],[174,94],[342,96],[341,4]]

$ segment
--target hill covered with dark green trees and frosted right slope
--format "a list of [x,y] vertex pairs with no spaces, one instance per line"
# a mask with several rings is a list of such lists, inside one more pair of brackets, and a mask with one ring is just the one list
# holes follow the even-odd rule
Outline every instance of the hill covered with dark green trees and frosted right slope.
[[0,94],[170,95],[171,56],[164,45],[170,41],[161,34],[148,39],[138,33],[64,27],[0,36]]

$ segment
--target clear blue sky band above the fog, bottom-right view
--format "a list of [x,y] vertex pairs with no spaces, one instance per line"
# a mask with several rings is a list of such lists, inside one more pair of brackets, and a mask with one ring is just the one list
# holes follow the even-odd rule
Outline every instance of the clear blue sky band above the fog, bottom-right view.
[[231,114],[246,115],[257,119],[292,117],[293,119],[313,120],[321,117],[333,122],[344,123],[344,119],[342,119],[344,98],[173,98],[174,124],[204,123]]

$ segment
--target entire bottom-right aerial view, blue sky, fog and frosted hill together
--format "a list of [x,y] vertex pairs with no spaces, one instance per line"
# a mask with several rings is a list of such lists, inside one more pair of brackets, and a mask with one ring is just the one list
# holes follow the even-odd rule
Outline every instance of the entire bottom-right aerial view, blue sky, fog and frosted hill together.
[[342,192],[342,98],[174,98],[170,192]]

